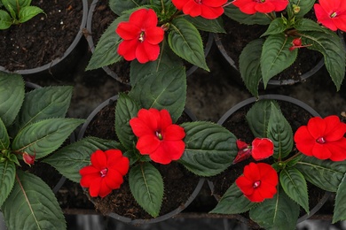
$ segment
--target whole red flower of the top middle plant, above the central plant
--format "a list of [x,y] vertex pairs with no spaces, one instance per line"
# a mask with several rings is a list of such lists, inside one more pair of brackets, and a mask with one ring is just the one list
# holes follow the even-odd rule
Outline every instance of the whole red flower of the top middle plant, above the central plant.
[[152,9],[140,9],[130,15],[129,21],[119,23],[115,30],[123,39],[118,47],[119,55],[128,61],[137,58],[142,64],[156,60],[164,34],[161,27],[156,27],[157,22]]

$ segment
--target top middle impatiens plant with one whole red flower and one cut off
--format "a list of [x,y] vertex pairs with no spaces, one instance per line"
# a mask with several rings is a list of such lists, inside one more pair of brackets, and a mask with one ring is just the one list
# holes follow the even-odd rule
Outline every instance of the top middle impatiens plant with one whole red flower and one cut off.
[[141,73],[183,66],[181,59],[208,71],[199,30],[224,33],[220,16],[226,0],[109,0],[118,16],[100,37],[86,70],[131,61],[130,83]]

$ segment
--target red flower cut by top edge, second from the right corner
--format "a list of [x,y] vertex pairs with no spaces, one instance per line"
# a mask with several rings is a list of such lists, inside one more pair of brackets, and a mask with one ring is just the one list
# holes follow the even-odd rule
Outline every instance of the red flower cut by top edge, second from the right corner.
[[247,14],[269,13],[285,10],[288,0],[236,0],[233,4],[239,7],[241,12]]

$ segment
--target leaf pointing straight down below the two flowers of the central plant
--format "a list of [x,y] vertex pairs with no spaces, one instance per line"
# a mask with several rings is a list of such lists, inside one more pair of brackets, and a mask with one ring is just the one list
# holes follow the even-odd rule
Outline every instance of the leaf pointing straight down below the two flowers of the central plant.
[[138,164],[130,169],[129,184],[138,204],[152,217],[159,216],[163,197],[160,172],[148,162]]

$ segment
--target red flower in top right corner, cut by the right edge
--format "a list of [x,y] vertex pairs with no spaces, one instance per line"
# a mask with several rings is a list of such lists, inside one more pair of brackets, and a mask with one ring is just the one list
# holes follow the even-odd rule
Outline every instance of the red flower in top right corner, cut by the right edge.
[[346,1],[345,0],[319,0],[314,4],[318,22],[323,26],[346,31]]

